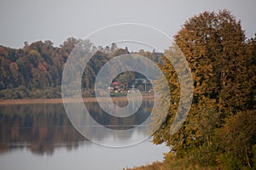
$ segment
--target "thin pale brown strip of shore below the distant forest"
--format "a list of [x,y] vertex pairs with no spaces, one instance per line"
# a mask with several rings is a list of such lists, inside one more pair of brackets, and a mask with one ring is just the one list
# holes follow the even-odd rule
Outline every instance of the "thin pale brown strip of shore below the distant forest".
[[[113,101],[127,100],[126,96],[117,96],[111,98]],[[144,94],[143,99],[154,99],[152,94]],[[83,98],[84,102],[96,102],[96,97]],[[0,99],[0,105],[23,105],[23,104],[60,104],[60,99]]]

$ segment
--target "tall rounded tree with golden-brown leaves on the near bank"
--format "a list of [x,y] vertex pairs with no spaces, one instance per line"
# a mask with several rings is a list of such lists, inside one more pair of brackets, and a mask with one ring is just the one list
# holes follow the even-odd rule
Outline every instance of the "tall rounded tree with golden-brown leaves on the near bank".
[[[248,53],[241,22],[226,10],[192,17],[177,32],[174,41],[189,62],[194,99],[183,127],[170,135],[177,111],[179,85],[177,74],[171,63],[166,61],[162,70],[170,82],[172,101],[166,120],[154,133],[154,143],[166,142],[180,157],[188,156],[191,150],[201,147],[210,152],[216,147],[213,141],[216,128],[223,126],[225,117],[253,110],[252,55]],[[170,54],[172,48],[166,50],[166,55]],[[209,157],[205,155],[206,159]],[[215,160],[209,159],[207,161],[214,164]]]

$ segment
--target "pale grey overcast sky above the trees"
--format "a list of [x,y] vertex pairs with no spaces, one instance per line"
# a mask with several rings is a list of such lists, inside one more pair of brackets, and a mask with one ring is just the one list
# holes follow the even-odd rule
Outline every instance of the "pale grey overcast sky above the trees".
[[[59,46],[67,37],[118,23],[154,26],[172,37],[185,20],[204,11],[228,9],[241,20],[247,37],[256,32],[255,0],[0,0],[0,44],[22,48],[24,42],[50,40]],[[191,2],[191,3],[190,3]],[[100,45],[100,44],[97,44]]]

